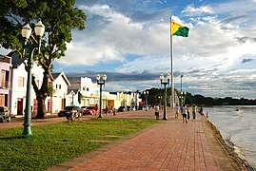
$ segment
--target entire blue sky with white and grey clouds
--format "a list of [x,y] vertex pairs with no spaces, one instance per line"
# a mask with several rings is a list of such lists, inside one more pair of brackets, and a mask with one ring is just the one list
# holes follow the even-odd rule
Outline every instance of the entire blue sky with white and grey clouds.
[[[72,31],[53,69],[68,76],[107,74],[105,90],[159,88],[170,72],[169,20],[189,28],[173,36],[174,87],[193,95],[256,99],[256,0],[76,0],[88,19]],[[3,51],[3,49],[0,49]]]

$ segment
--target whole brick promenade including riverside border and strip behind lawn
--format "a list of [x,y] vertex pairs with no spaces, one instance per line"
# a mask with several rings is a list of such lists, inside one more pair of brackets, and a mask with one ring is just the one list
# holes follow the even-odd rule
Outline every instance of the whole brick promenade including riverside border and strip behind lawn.
[[[120,119],[154,119],[153,110],[118,113]],[[163,112],[162,112],[163,113]],[[169,113],[169,111],[167,111]],[[105,117],[112,118],[108,114]],[[49,170],[241,170],[231,160],[213,131],[206,125],[206,118],[197,115],[195,121],[182,123],[171,113],[167,121],[157,123],[134,135],[60,163]],[[87,120],[95,116],[83,117]],[[162,116],[163,117],[163,116]],[[64,122],[65,118],[32,121],[33,125]],[[0,124],[0,128],[22,126],[18,121]]]

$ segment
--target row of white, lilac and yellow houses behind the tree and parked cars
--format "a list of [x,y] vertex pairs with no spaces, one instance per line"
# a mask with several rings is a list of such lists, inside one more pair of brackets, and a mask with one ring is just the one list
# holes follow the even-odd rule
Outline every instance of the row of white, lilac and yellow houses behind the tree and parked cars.
[[[0,55],[0,106],[7,106],[10,114],[23,116],[26,105],[27,71],[18,55]],[[41,85],[43,68],[34,64],[31,73],[36,84]],[[57,113],[67,105],[89,106],[100,104],[100,87],[88,77],[67,77],[64,72],[51,73],[49,84],[54,93],[46,100],[48,113]],[[31,109],[37,113],[37,100],[31,86]],[[121,105],[137,105],[141,102],[138,94],[124,92],[102,93],[102,107],[118,108]]]

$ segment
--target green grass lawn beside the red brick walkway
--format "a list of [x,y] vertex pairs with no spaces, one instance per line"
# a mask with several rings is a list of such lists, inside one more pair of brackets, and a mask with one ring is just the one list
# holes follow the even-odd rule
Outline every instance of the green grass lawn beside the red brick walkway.
[[24,138],[23,128],[0,129],[0,170],[46,170],[135,133],[159,121],[91,119],[71,123],[31,126],[32,136]]

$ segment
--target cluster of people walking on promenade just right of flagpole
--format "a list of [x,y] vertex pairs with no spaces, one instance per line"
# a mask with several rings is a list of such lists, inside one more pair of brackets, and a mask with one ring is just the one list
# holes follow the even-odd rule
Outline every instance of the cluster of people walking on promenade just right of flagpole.
[[182,114],[182,121],[183,123],[187,123],[187,121],[190,119],[190,113],[192,108],[192,117],[193,120],[196,119],[196,105],[193,104],[192,107],[189,104],[183,104],[181,107],[179,104],[176,104],[175,106],[175,118],[178,118],[179,113],[181,111]]

